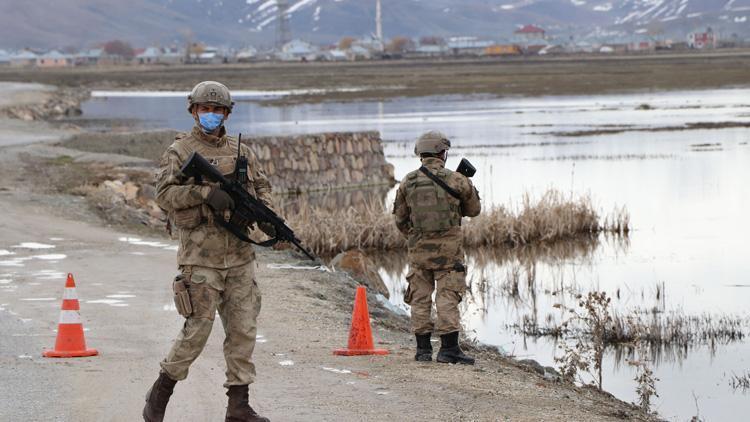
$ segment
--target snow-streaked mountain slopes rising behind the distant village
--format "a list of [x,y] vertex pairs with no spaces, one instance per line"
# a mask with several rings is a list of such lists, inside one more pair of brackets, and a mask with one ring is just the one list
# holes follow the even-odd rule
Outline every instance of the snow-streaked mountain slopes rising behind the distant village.
[[[284,0],[293,38],[335,43],[375,32],[376,0]],[[525,24],[550,34],[634,34],[682,38],[713,27],[750,38],[750,0],[381,0],[383,30],[394,36],[468,35],[502,39]],[[0,0],[0,48],[134,44],[192,39],[270,46],[279,0]],[[43,23],[43,24],[42,24]],[[81,28],[86,28],[82,31]],[[647,31],[644,31],[644,28]]]

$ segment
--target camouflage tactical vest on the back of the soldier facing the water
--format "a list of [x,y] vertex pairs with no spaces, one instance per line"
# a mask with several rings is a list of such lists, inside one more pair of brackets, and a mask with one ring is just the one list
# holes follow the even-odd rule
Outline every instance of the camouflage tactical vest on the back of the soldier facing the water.
[[[450,170],[433,172],[447,183]],[[418,233],[441,232],[461,225],[460,203],[445,189],[419,171],[409,173],[405,184],[406,204],[412,228]]]

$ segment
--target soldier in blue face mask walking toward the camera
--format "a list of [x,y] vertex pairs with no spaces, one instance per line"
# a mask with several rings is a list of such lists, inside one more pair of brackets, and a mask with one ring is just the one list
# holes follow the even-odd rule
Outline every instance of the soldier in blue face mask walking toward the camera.
[[[224,326],[224,358],[229,403],[226,421],[268,421],[250,407],[248,384],[255,378],[251,361],[255,347],[256,319],[261,295],[255,281],[255,252],[250,244],[215,224],[216,218],[233,207],[232,198],[218,185],[196,183],[180,171],[192,152],[198,152],[224,175],[234,176],[237,140],[226,134],[224,121],[234,103],[229,90],[218,82],[201,82],[188,96],[188,112],[195,119],[190,133],[177,135],[161,158],[156,176],[157,203],[177,228],[177,263],[181,274],[175,280],[189,298],[189,306],[178,306],[186,318],[172,350],[161,362],[159,378],[146,395],[146,422],[162,421],[177,381],[184,380],[190,364],[206,345],[218,311]],[[257,159],[242,145],[248,157],[248,191],[266,205],[271,185]],[[272,227],[261,227],[273,234]]]

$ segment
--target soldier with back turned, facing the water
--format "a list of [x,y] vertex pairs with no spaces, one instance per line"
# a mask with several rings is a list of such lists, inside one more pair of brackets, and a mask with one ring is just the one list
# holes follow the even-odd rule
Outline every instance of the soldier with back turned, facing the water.
[[[408,238],[409,283],[404,302],[411,305],[412,330],[417,339],[417,361],[432,360],[433,332],[440,335],[437,361],[474,364],[458,345],[461,314],[458,304],[466,292],[466,266],[461,240],[461,218],[481,211],[477,190],[466,176],[445,168],[450,141],[439,132],[420,136],[414,148],[422,166],[442,180],[459,198],[415,170],[406,175],[396,193],[396,226]],[[431,319],[435,293],[437,321]]]

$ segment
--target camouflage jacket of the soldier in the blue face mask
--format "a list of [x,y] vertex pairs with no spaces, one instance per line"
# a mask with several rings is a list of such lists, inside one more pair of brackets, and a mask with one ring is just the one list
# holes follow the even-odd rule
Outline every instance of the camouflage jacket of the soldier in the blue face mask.
[[[234,177],[237,140],[227,136],[224,128],[220,136],[212,136],[196,126],[190,133],[178,134],[161,157],[156,174],[156,202],[178,230],[177,263],[219,269],[246,264],[255,258],[252,245],[215,224],[211,209],[204,203],[213,186],[205,182],[196,184],[180,171],[193,151],[222,174]],[[248,158],[248,192],[270,206],[271,184],[250,148],[243,145],[242,153]]]

